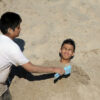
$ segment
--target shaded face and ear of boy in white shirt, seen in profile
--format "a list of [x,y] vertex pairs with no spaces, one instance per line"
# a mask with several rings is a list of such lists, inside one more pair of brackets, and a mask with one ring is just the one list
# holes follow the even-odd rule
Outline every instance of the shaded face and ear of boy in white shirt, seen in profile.
[[8,29],[8,33],[10,34],[10,36],[12,38],[18,37],[20,34],[21,28],[20,28],[20,24],[13,30],[13,29]]

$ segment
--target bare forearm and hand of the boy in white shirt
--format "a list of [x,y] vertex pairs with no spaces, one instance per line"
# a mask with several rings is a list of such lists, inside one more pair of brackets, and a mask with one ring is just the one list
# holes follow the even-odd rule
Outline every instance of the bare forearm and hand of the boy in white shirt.
[[59,73],[60,75],[62,75],[65,72],[63,68],[37,66],[32,64],[31,62],[23,64],[22,67],[28,72],[32,73]]

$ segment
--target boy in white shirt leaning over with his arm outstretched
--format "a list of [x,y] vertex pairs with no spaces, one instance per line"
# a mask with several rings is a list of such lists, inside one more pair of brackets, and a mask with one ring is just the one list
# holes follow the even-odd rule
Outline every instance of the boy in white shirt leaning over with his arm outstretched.
[[13,12],[6,12],[1,16],[0,29],[0,100],[11,100],[5,84],[12,64],[21,65],[28,72],[64,74],[63,68],[40,67],[32,64],[22,53],[19,46],[13,41],[19,36],[21,17]]

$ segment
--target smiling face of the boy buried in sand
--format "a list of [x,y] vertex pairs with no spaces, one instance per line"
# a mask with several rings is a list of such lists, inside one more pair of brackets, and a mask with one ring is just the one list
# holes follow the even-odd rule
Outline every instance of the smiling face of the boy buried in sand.
[[61,59],[70,60],[74,56],[74,48],[71,44],[64,44],[60,49]]

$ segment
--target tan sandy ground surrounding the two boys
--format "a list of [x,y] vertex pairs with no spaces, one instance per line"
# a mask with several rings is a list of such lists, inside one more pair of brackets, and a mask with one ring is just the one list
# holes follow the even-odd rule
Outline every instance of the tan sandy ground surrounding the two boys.
[[50,75],[23,72],[28,77],[15,76],[10,85],[13,100],[100,99],[100,0],[0,0],[0,15],[6,11],[21,15],[19,38],[32,63],[59,66],[66,38],[77,47],[70,77],[54,83]]

